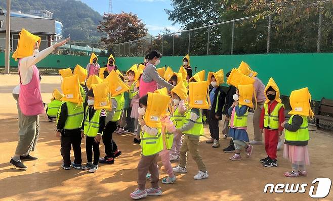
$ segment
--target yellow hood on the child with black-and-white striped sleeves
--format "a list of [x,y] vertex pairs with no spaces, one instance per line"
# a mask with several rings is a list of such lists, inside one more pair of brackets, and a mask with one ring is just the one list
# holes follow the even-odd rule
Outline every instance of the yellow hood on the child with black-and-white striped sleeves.
[[111,110],[111,105],[109,101],[109,83],[108,82],[102,82],[99,84],[92,84],[91,85],[95,101],[94,101],[94,109],[107,109]]

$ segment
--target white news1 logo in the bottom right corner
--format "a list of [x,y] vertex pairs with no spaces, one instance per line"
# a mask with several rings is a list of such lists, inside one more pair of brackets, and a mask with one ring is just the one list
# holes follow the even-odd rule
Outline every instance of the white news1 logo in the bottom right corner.
[[[332,181],[329,178],[316,178],[311,184],[316,184],[310,186],[309,196],[312,198],[324,198],[329,194]],[[265,185],[264,193],[267,193],[270,187],[269,193],[305,193],[307,191],[307,183],[295,184],[295,183],[278,183],[276,185],[268,183]]]

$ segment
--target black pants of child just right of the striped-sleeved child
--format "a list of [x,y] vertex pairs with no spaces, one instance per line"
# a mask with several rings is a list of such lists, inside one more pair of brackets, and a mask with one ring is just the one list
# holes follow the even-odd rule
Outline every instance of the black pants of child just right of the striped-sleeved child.
[[112,134],[115,129],[117,129],[117,122],[109,121],[103,131],[102,138],[107,158],[113,158],[113,153],[118,149],[117,144],[112,139]]

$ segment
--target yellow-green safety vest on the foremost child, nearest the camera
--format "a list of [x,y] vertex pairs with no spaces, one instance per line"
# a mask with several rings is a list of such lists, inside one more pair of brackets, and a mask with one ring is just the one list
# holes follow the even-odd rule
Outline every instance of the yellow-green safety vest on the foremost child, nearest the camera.
[[141,136],[141,147],[143,156],[152,156],[163,150],[163,139],[161,128],[157,128],[158,133],[156,136],[149,135],[143,132]]

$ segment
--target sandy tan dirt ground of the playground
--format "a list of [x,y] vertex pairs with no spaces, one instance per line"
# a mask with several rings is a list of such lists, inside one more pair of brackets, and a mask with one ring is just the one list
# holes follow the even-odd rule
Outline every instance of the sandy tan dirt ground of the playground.
[[[50,102],[54,88],[60,89],[59,76],[42,75],[41,92],[43,100]],[[18,75],[0,75],[0,200],[131,200],[129,194],[137,187],[137,164],[140,147],[133,143],[133,135],[117,135],[122,155],[113,165],[101,165],[97,172],[60,168],[60,139],[55,137],[55,122],[48,122],[46,114],[40,116],[40,136],[37,150],[31,153],[37,161],[25,162],[26,171],[15,170],[8,162],[15,152],[18,139],[16,102],[12,89],[19,82]],[[249,138],[253,139],[252,116],[248,120]],[[222,126],[221,126],[222,127]],[[333,137],[331,133],[310,127],[308,176],[287,178],[283,175],[291,169],[291,164],[282,158],[283,150],[278,151],[278,167],[266,168],[260,163],[266,157],[264,145],[255,145],[253,155],[241,161],[230,161],[232,154],[222,152],[230,139],[221,139],[219,148],[212,148],[200,138],[199,152],[206,164],[210,177],[194,180],[196,164],[189,156],[188,172],[178,174],[174,184],[160,183],[163,194],[160,197],[147,197],[145,200],[312,200],[309,196],[311,182],[315,178],[333,180]],[[86,163],[85,140],[82,140],[82,158]],[[104,147],[101,143],[101,156]],[[243,150],[242,150],[243,153]],[[244,156],[244,155],[243,155]],[[161,162],[160,179],[166,174]],[[178,163],[173,163],[177,166]],[[267,183],[307,183],[306,192],[263,193]],[[314,184],[317,185],[317,184]],[[146,187],[150,184],[147,182]],[[333,193],[321,200],[333,200]]]

